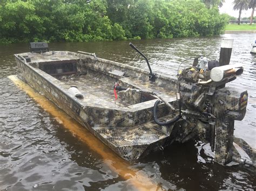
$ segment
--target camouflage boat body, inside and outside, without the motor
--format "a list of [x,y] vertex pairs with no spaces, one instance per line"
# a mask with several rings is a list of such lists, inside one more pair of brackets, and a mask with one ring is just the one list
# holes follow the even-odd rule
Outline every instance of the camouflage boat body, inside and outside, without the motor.
[[[31,62],[25,61],[26,56]],[[49,56],[23,53],[15,55],[15,58],[23,79],[31,87],[75,118],[120,157],[138,159],[165,146],[170,134],[152,123],[156,97],[124,93],[118,95],[115,102],[113,86],[117,82],[125,87],[157,91],[166,89],[163,96],[175,102],[172,79],[159,75],[161,81],[156,85],[151,84],[145,80],[145,70],[71,52],[55,52]],[[111,74],[114,69],[122,70],[129,77]],[[72,85],[83,94],[83,99],[70,94]],[[161,116],[171,115],[164,105],[160,105],[158,110]]]

